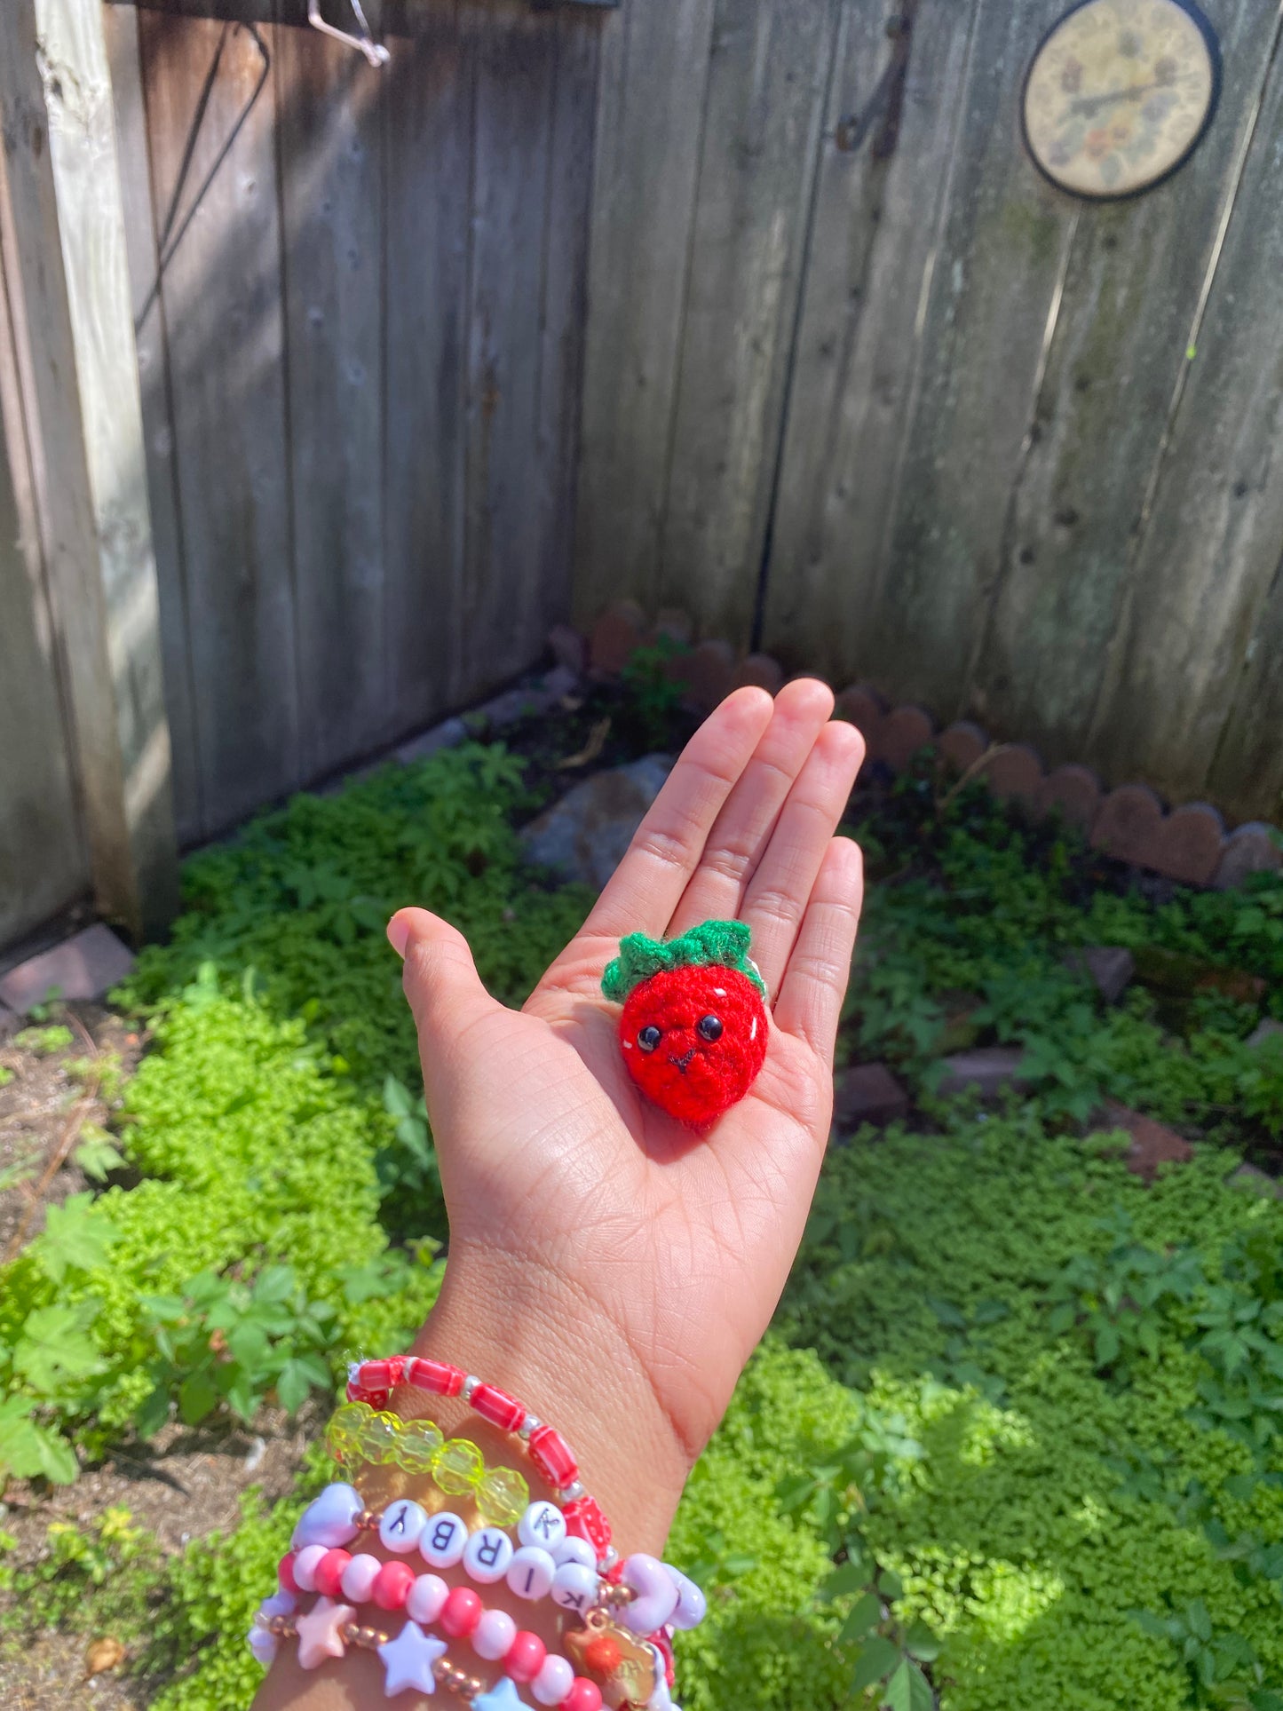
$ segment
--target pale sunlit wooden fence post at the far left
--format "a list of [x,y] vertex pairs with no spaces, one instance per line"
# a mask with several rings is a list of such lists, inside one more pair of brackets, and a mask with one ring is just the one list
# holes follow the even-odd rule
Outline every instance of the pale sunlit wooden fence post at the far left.
[[0,0],[0,258],[94,895],[140,939],[174,912],[178,856],[101,0]]

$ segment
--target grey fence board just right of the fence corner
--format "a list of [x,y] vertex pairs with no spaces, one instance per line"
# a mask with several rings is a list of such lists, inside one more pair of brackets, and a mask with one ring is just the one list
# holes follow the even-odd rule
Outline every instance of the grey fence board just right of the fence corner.
[[607,12],[592,188],[575,609],[655,604],[713,0]]

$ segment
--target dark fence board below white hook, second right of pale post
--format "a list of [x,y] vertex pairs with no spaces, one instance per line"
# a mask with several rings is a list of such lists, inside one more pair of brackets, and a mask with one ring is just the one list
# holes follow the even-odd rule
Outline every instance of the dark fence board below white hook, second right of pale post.
[[388,736],[383,657],[385,70],[275,34],[304,780]]

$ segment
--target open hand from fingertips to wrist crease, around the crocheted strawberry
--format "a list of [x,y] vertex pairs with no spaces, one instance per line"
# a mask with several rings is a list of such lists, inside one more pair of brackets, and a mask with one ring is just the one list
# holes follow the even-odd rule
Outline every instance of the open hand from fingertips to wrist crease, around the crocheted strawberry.
[[[522,1011],[464,938],[407,909],[405,956],[450,1213],[450,1256],[494,1311],[561,1348],[623,1343],[698,1453],[778,1300],[828,1138],[831,1059],[860,905],[835,826],[862,758],[801,679],[729,696],[688,743],[582,931]],[[766,1063],[705,1136],[635,1088],[600,992],[619,938],[710,917],[753,929],[773,1001]],[[585,1338],[580,1336],[580,1347]],[[537,1400],[535,1400],[537,1405]]]

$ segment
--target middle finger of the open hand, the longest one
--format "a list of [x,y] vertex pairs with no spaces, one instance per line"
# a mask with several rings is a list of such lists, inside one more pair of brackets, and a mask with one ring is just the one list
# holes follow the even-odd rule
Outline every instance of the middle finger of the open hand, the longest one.
[[775,696],[772,722],[708,833],[700,866],[667,926],[669,938],[701,921],[739,914],[780,808],[831,712],[833,693],[814,678],[787,683]]

